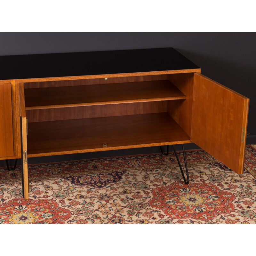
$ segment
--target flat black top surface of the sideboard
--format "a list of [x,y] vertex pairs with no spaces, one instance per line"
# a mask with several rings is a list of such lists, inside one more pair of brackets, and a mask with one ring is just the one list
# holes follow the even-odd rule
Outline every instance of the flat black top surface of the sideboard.
[[0,80],[194,68],[173,48],[0,56]]

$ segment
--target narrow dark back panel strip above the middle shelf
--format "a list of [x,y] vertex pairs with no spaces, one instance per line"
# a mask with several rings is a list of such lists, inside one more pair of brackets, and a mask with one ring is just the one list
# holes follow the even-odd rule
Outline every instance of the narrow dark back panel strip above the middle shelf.
[[156,81],[156,80],[167,80],[167,79],[168,79],[168,75],[152,75],[152,76],[109,77],[108,80],[105,80],[104,78],[94,78],[94,79],[33,82],[33,83],[24,83],[24,89],[76,86],[76,85],[92,85],[92,84],[130,83],[130,82]]

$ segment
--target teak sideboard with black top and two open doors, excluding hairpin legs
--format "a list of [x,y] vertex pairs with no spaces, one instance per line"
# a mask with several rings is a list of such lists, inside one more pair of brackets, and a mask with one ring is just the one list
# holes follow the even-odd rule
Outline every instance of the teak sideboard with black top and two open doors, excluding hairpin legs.
[[0,57],[0,160],[195,143],[243,173],[249,99],[173,48]]

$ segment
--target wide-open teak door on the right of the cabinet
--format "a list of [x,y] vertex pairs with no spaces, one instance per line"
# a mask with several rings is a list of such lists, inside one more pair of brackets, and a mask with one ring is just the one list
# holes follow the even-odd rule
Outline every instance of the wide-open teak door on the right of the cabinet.
[[249,99],[195,73],[191,141],[243,173]]

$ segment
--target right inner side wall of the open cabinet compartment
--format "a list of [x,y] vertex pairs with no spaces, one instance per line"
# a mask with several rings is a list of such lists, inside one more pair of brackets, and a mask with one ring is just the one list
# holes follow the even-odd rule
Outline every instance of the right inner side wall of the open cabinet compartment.
[[168,102],[168,113],[190,136],[193,104],[194,73],[171,74],[169,81],[174,84],[187,98]]

